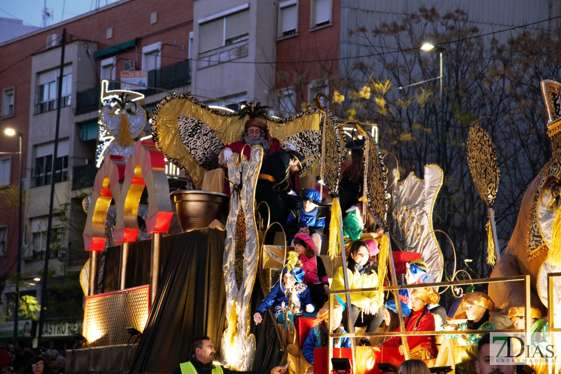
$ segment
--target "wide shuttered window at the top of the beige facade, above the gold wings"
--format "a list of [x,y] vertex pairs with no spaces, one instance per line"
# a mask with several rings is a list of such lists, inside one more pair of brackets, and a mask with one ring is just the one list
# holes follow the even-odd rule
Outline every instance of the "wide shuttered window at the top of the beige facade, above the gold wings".
[[249,3],[199,20],[199,52],[249,39]]

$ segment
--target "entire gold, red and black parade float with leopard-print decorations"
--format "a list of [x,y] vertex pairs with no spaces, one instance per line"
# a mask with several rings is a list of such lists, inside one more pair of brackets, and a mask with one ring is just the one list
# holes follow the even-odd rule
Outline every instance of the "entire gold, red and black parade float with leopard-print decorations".
[[[245,146],[239,154],[233,153],[226,167],[219,165],[224,146],[238,141],[244,123],[257,117],[266,123],[272,137],[293,144],[305,157],[299,175],[291,177],[290,183],[298,193],[302,186],[320,193],[320,208],[328,222],[320,256],[330,278],[339,266],[347,274],[345,212],[338,199],[342,162],[348,152],[344,144],[349,137],[364,142],[361,214],[364,221],[370,220],[384,233],[378,240],[378,284],[358,291],[375,289],[380,306],[384,300],[394,300],[399,331],[355,330],[348,311],[350,331],[329,333],[329,348],[315,349],[314,372],[328,373],[333,364],[341,363],[343,371],[338,372],[392,372],[392,367],[416,357],[404,339],[413,335],[437,337],[439,356],[423,358],[429,367],[441,366],[433,372],[462,372],[456,365],[470,357],[473,345],[459,347],[452,342],[447,336],[452,333],[439,329],[446,321],[435,323],[435,331],[407,330],[398,292],[407,289],[433,287],[461,301],[468,287],[488,284],[496,308],[494,317],[502,315],[508,320],[509,307],[525,306],[525,329],[516,330],[503,319],[493,331],[530,331],[531,306],[540,308],[542,314],[548,312],[550,331],[561,323],[551,307],[559,302],[561,292],[561,273],[557,273],[561,269],[561,218],[557,216],[557,153],[561,148],[556,140],[561,115],[559,83],[542,83],[553,156],[528,188],[502,258],[493,211],[499,188],[496,152],[489,135],[476,122],[471,124],[467,162],[477,191],[488,206],[489,263],[496,260],[496,267],[492,278],[463,280],[457,279],[455,265],[452,277],[443,279],[444,260],[433,228],[434,204],[443,184],[440,167],[426,165],[424,179],[413,173],[401,179],[398,167],[388,170],[372,134],[358,123],[338,123],[321,105],[320,96],[307,111],[280,119],[255,102],[228,113],[211,109],[188,94],[170,95],[153,110],[151,141],[134,141],[146,116],[137,104],[141,95],[108,91],[107,82],[102,85],[99,122],[112,140],[104,146],[93,194],[84,203],[88,212],[84,243],[90,259],[82,270],[81,282],[87,296],[82,344],[68,352],[69,372],[169,373],[188,361],[191,340],[201,335],[214,342],[215,359],[233,370],[287,362],[291,373],[310,370],[302,356],[302,344],[321,320],[298,318],[297,334],[287,336],[272,314],[264,315],[260,325],[251,319],[259,302],[279,282],[279,270],[286,267],[291,249],[279,232],[275,245],[264,244],[268,231],[280,226],[270,222],[271,207],[255,200],[264,149]],[[185,190],[170,194],[166,161],[173,162],[187,177]],[[148,195],[147,204],[141,204],[143,193]],[[169,235],[173,219],[180,223],[182,233]],[[426,265],[425,283],[400,284],[410,261]],[[330,312],[335,295],[351,305],[347,277],[344,286],[331,292],[327,303]],[[385,292],[380,292],[382,289]],[[454,319],[462,318],[465,321],[459,310]],[[396,335],[403,337],[403,350],[356,345],[360,338]],[[343,337],[351,338],[351,348],[333,348],[333,339]]]

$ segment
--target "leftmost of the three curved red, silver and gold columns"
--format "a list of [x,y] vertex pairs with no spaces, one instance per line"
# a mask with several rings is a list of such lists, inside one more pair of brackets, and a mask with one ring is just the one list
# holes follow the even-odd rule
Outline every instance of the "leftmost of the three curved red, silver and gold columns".
[[105,222],[111,200],[121,200],[121,188],[125,180],[126,162],[123,156],[107,155],[95,175],[94,191],[82,236],[86,251],[103,251],[107,236]]

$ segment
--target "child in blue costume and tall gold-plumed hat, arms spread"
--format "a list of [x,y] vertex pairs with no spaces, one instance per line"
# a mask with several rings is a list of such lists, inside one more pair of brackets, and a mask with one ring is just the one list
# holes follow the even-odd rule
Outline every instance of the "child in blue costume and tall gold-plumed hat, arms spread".
[[[306,284],[301,283],[304,280],[304,273],[298,254],[294,251],[289,252],[281,279],[255,310],[253,315],[255,324],[263,320],[263,315],[272,306],[274,306],[273,315],[279,324],[284,323],[285,316],[291,322],[289,326],[293,326],[294,316],[315,317],[310,290]],[[291,300],[288,300],[289,297]]]

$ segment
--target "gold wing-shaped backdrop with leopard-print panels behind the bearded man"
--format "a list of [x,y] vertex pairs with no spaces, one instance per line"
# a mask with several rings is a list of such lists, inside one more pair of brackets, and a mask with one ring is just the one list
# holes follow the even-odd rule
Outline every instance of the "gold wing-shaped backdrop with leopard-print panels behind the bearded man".
[[[251,105],[255,103],[248,104]],[[203,176],[209,170],[207,168],[215,167],[213,163],[205,161],[216,160],[224,144],[241,140],[243,126],[249,119],[246,111],[242,111],[243,113],[224,113],[206,106],[188,94],[169,95],[161,100],[152,112],[152,139],[158,149],[164,152],[165,157],[183,171],[191,186],[200,188]],[[296,143],[298,152],[304,155],[310,152],[310,155],[313,155],[320,153],[320,143],[307,139],[312,139],[309,136],[310,131],[320,131],[318,114],[318,109],[310,109],[285,119],[264,113],[260,119],[266,122],[270,135],[280,143],[292,141]],[[180,121],[189,130],[181,127]],[[294,135],[298,133],[303,133],[299,137],[304,139],[303,142],[295,141]],[[306,175],[319,175],[318,160],[300,174]]]

